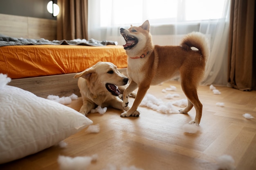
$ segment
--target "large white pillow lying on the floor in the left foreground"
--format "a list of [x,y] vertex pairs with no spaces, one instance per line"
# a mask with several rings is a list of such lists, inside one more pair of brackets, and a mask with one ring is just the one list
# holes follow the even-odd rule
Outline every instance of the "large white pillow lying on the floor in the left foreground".
[[90,124],[72,108],[4,86],[0,88],[0,163],[49,148]]

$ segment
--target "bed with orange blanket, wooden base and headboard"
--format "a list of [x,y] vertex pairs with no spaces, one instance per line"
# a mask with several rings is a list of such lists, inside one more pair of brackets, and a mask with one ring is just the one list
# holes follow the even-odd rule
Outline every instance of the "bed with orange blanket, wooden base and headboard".
[[[22,20],[20,16],[17,18],[14,15],[0,15],[2,16],[1,20],[5,18],[9,24]],[[53,20],[40,18],[38,20],[28,17],[27,27],[33,25],[30,22],[34,22],[34,25],[35,23],[53,22]],[[13,22],[10,23],[10,21]],[[2,25],[0,24],[0,34],[2,35],[0,36],[0,73],[7,74],[12,79],[9,83],[11,86],[30,91],[40,97],[67,96],[72,93],[80,96],[77,79],[73,77],[76,73],[97,62],[112,62],[122,73],[126,73],[127,55],[123,46],[117,45],[115,42],[93,39],[57,41],[50,38],[47,32],[40,32],[40,26],[36,27],[39,32],[38,36],[33,33],[34,29],[31,29],[30,32],[28,29],[27,34],[20,33],[24,37],[17,38],[19,37],[17,29],[9,31],[11,29],[5,28],[6,24],[3,22],[1,21]],[[11,27],[15,27],[15,25]],[[56,28],[56,24],[54,26]],[[45,37],[53,40],[39,38],[42,32],[45,33]]]

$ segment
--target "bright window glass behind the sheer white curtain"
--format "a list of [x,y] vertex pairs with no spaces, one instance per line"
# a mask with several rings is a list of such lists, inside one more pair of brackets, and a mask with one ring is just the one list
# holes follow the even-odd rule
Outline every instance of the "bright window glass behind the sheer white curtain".
[[225,0],[101,0],[100,25],[170,24],[222,18]]

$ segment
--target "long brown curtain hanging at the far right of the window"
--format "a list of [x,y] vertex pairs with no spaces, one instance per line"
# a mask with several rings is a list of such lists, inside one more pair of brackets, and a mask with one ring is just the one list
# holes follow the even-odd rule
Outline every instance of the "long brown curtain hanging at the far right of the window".
[[228,81],[242,91],[256,90],[255,0],[231,0]]

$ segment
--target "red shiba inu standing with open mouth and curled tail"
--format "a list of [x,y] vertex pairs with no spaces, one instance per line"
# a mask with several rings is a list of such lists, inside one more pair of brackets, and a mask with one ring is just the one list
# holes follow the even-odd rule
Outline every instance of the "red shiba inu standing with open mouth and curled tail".
[[[199,124],[202,117],[202,103],[198,99],[197,87],[204,75],[209,56],[208,42],[199,32],[186,35],[179,46],[153,45],[150,25],[146,20],[141,26],[120,29],[126,44],[123,45],[128,55],[127,73],[131,79],[124,91],[121,117],[139,116],[137,110],[150,85],[157,85],[180,74],[181,86],[188,99],[186,108],[181,113],[188,113],[193,106],[195,120],[190,124]],[[196,49],[191,47],[195,47]],[[131,108],[128,108],[129,94],[138,88],[137,96]]]

